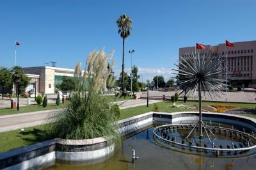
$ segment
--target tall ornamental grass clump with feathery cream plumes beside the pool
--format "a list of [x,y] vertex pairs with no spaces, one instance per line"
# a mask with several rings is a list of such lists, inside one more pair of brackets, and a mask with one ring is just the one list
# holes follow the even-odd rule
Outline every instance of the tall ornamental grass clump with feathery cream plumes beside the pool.
[[[111,109],[108,100],[102,96],[102,89],[110,73],[108,61],[113,52],[105,54],[104,49],[94,50],[88,55],[86,68],[81,70],[77,63],[74,81],[76,89],[63,112],[52,117],[52,132],[62,139],[92,139],[105,137],[118,141],[118,109]],[[114,61],[111,63],[111,68]]]

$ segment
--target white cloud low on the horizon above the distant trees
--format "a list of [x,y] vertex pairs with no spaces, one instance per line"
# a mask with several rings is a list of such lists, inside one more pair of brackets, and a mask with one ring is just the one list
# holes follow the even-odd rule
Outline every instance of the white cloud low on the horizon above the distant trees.
[[[115,75],[119,77],[120,72],[122,72],[122,68],[114,67],[113,71]],[[125,72],[131,73],[131,68],[125,68]],[[146,67],[138,67],[138,74],[140,76],[140,81],[147,82],[147,80],[152,81],[156,75],[163,75],[164,81],[168,81],[171,77],[175,77],[172,73],[175,71],[172,68],[146,68]]]

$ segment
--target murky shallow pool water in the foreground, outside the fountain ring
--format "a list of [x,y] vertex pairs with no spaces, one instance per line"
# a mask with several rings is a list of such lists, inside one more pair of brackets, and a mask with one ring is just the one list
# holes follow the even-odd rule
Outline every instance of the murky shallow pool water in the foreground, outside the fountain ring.
[[[45,169],[256,169],[255,154],[248,157],[237,154],[236,158],[216,158],[173,151],[164,144],[156,143],[152,131],[153,128],[149,127],[124,139],[120,148],[109,158],[72,164],[56,161]],[[230,143],[227,137],[220,137],[220,141]],[[140,157],[134,163],[132,148],[136,150],[136,156]]]

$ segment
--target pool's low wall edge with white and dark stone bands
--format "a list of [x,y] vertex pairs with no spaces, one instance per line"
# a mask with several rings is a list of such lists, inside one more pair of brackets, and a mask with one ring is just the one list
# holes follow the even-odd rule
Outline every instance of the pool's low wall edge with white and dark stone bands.
[[[232,123],[255,132],[256,120],[244,116],[222,114],[216,112],[202,112],[203,120]],[[147,112],[118,121],[122,135],[131,134],[136,130],[154,122],[187,123],[198,121],[198,112]],[[61,146],[80,145],[85,151],[61,151]],[[110,147],[110,148],[108,148]],[[0,153],[0,169],[28,169],[51,160],[93,160],[107,156],[113,152],[113,146],[107,144],[106,139],[98,137],[88,140],[63,140],[51,139],[42,143],[36,143],[5,153]]]

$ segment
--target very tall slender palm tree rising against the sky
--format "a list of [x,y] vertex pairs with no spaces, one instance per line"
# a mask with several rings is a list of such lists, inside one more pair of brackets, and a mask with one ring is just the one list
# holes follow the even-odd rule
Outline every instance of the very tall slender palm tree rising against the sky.
[[118,34],[123,38],[123,63],[122,63],[122,91],[124,92],[124,41],[130,35],[132,30],[132,20],[127,15],[120,15],[118,20],[116,20],[118,26]]

